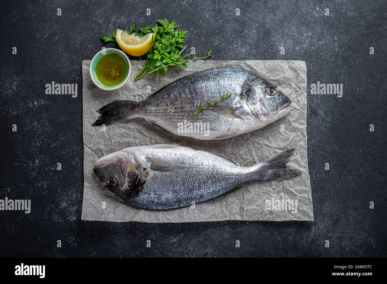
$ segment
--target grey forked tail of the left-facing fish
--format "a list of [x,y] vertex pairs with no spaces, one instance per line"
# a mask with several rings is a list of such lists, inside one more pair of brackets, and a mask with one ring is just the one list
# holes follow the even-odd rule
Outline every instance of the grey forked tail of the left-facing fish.
[[262,163],[253,165],[253,180],[285,180],[302,175],[300,170],[288,167],[289,157],[295,150],[283,151]]

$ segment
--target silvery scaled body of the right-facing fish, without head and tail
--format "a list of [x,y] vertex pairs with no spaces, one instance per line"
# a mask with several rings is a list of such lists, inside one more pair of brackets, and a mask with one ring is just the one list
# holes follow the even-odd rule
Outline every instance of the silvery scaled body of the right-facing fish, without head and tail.
[[[228,67],[188,75],[161,88],[149,99],[139,102],[131,118],[142,117],[173,134],[197,139],[216,139],[221,135],[231,137],[261,128],[265,124],[253,116],[246,102],[240,99],[242,86],[248,78],[255,78],[257,82],[263,80],[250,71]],[[212,106],[192,115],[199,110],[200,105],[205,106],[227,93],[231,93],[231,97],[214,105],[240,107],[240,118],[211,110]],[[207,123],[208,135],[204,131],[179,133],[178,123],[188,122]]]

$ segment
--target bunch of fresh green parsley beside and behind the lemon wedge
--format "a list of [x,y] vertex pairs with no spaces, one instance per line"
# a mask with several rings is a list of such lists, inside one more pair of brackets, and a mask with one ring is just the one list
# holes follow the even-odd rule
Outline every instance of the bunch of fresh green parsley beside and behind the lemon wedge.
[[[140,37],[145,36],[149,32],[154,32],[155,36],[152,38],[152,48],[149,52],[143,56],[139,56],[138,60],[142,60],[146,56],[146,61],[144,68],[140,71],[139,74],[134,78],[135,81],[140,80],[148,74],[153,73],[153,75],[165,76],[165,73],[168,71],[168,68],[171,66],[179,66],[179,68],[186,68],[187,63],[191,61],[196,61],[199,59],[207,60],[208,57],[212,55],[212,50],[209,53],[205,54],[202,57],[195,56],[188,60],[185,59],[187,56],[192,55],[192,53],[185,54],[182,56],[183,51],[187,48],[183,46],[184,39],[187,36],[188,31],[177,31],[175,20],[168,22],[167,19],[158,20],[160,26],[148,26],[143,29],[139,29],[140,32],[138,35]],[[130,26],[129,31],[125,30],[128,34],[133,34],[137,31],[137,24]],[[113,39],[114,38],[114,39]],[[105,42],[113,41],[113,48],[117,47],[115,41],[115,31],[113,31],[113,37],[110,34],[101,37]]]

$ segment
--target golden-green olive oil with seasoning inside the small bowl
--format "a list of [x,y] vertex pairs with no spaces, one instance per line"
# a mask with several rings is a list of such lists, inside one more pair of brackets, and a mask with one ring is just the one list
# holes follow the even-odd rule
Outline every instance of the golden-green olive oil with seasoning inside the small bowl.
[[128,65],[120,54],[108,53],[99,58],[95,66],[95,74],[101,84],[113,87],[125,80]]

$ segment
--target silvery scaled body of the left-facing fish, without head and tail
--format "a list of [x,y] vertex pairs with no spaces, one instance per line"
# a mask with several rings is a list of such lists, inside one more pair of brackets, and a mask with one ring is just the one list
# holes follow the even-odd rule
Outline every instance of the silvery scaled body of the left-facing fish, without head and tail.
[[[168,165],[180,165],[182,170],[148,170],[146,182],[139,194],[127,202],[149,209],[170,209],[219,197],[236,186],[251,180],[251,169],[238,167],[220,156],[191,148],[130,147],[141,167],[149,167],[147,157],[160,158]],[[189,161],[189,162],[187,162]]]

